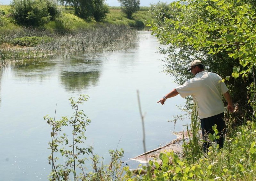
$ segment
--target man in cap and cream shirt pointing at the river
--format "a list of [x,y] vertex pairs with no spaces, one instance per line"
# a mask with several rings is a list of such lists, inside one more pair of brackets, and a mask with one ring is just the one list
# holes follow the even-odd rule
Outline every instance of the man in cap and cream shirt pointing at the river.
[[220,139],[216,141],[219,144],[219,148],[223,148],[226,128],[223,120],[225,108],[221,93],[228,102],[228,111],[234,111],[228,88],[224,82],[221,82],[222,78],[218,74],[204,70],[204,66],[200,60],[192,61],[188,68],[188,71],[190,70],[195,77],[173,89],[157,103],[160,102],[164,105],[166,99],[177,96],[178,94],[180,94],[182,98],[192,96],[194,103],[197,103],[198,107],[198,116],[201,121],[204,138],[204,152],[206,152],[209,147],[207,135],[209,133],[213,134],[212,126],[215,124],[220,133]]

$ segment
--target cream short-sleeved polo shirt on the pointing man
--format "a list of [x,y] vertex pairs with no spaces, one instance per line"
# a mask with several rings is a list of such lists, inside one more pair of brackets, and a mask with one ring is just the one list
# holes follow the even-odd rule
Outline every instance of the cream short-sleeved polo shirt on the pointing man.
[[226,93],[228,88],[221,80],[218,74],[204,70],[176,90],[182,98],[192,96],[197,102],[199,118],[208,118],[225,111],[221,93]]

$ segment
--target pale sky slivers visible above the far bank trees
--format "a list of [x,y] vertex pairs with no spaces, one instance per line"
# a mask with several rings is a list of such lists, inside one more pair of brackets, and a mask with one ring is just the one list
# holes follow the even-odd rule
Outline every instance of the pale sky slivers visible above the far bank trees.
[[[12,0],[0,0],[1,4],[10,4]],[[171,3],[174,0],[160,0],[161,2]],[[109,6],[120,6],[120,3],[117,0],[106,0],[106,4]],[[140,0],[140,6],[149,6],[150,4],[156,4],[159,0]]]

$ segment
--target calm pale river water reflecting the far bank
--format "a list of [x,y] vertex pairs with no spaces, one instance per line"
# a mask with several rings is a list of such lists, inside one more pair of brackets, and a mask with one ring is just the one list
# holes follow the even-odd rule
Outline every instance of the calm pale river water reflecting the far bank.
[[[0,69],[0,180],[47,180],[51,166],[51,128],[43,117],[72,116],[68,98],[90,96],[80,106],[92,120],[84,146],[108,163],[109,149],[123,148],[125,163],[144,152],[137,90],[145,115],[147,151],[175,139],[185,122],[168,122],[182,113],[179,95],[165,105],[156,104],[175,88],[172,77],[162,72],[163,55],[156,53],[157,39],[139,32],[140,41],[129,51],[54,57],[49,63]],[[71,135],[70,130],[67,131]],[[88,156],[90,157],[90,156]],[[90,164],[88,168],[90,170]]]

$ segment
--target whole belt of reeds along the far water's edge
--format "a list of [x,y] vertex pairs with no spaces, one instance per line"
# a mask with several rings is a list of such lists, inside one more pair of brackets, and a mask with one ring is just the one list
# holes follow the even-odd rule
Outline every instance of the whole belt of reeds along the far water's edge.
[[51,36],[51,41],[38,44],[36,47],[10,47],[3,43],[0,49],[0,66],[7,63],[28,64],[46,60],[49,55],[65,54],[69,56],[77,52],[112,52],[128,50],[138,40],[136,30],[124,25],[97,25],[91,29],[80,29],[74,33],[55,35],[38,29],[18,29],[12,33],[4,33],[1,41],[11,41],[22,36]]

